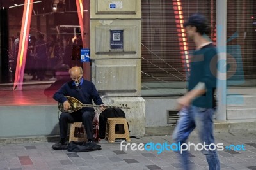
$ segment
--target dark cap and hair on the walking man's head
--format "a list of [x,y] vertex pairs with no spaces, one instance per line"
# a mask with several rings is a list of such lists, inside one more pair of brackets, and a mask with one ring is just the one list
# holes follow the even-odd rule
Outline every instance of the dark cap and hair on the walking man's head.
[[204,15],[199,13],[195,13],[188,18],[184,24],[184,27],[193,26],[196,27],[196,32],[199,34],[208,34],[209,33],[209,26],[207,25],[207,20]]

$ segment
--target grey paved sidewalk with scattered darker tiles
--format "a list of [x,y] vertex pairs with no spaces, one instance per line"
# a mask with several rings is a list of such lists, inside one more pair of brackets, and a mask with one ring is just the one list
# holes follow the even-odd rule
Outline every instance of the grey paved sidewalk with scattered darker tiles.
[[[198,136],[192,135],[191,143],[198,143]],[[221,169],[256,169],[256,132],[216,133],[216,143],[223,146],[241,145],[245,151],[218,151]],[[170,136],[147,136],[140,139],[131,138],[131,143],[165,143],[171,144]],[[177,153],[164,151],[132,151],[131,147],[120,151],[120,141],[99,142],[102,150],[72,153],[67,150],[52,150],[52,142],[0,144],[0,170],[62,170],[62,169],[180,169],[182,162]],[[125,144],[125,143],[124,143]],[[199,151],[190,152],[193,169],[208,169],[205,156]]]

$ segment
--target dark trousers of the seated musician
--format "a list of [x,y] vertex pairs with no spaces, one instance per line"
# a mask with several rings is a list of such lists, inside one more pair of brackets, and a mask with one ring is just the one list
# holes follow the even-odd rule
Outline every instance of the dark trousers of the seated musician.
[[60,115],[59,125],[60,125],[60,138],[65,139],[67,138],[67,131],[68,131],[68,123],[73,122],[83,122],[87,139],[93,139],[93,118],[95,116],[94,111],[77,111],[74,113],[66,113],[63,112]]

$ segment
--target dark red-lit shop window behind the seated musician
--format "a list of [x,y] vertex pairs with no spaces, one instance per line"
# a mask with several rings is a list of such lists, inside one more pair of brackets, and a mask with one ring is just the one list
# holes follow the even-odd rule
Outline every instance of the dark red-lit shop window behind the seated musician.
[[[0,62],[0,90],[12,96],[10,101],[16,104],[45,104],[53,101],[52,94],[70,80],[68,69],[82,66],[79,59],[83,43],[76,1],[34,1],[29,34],[24,41],[20,39],[24,33],[21,32],[23,10],[24,0],[6,1],[0,9],[0,56],[1,61],[6,59],[6,63]],[[22,46],[20,52],[19,46]],[[19,53],[20,62],[17,63]],[[22,92],[13,92],[15,73],[17,79],[24,77]],[[41,96],[44,101],[36,102],[38,98],[22,101],[20,97],[15,98],[18,93],[32,98]]]

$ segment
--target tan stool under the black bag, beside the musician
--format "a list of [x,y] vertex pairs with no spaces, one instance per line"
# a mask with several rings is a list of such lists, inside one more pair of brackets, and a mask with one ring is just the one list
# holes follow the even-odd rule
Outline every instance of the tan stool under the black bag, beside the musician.
[[[119,127],[117,132],[116,125]],[[131,141],[126,118],[108,118],[105,139],[113,143],[116,138],[125,138],[126,141]]]

